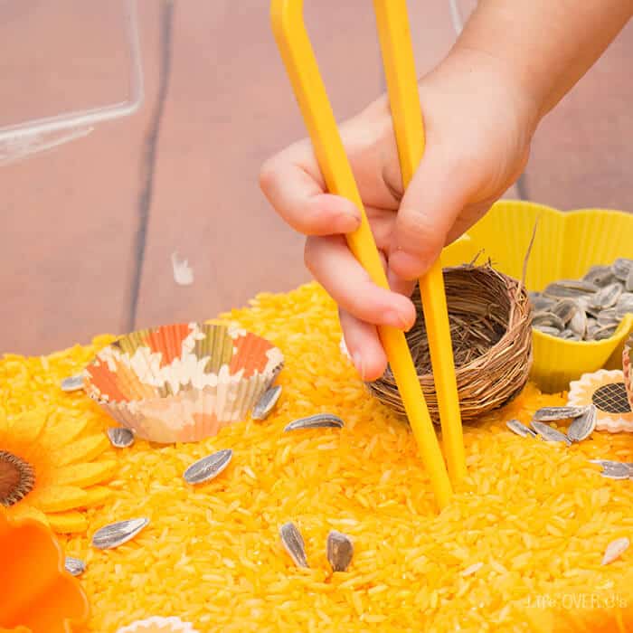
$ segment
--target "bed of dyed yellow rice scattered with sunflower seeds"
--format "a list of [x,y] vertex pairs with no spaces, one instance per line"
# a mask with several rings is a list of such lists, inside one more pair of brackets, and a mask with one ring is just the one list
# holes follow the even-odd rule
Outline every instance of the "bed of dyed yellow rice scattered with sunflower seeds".
[[[595,433],[572,449],[521,439],[505,420],[527,422],[536,408],[563,402],[529,386],[465,430],[468,481],[438,515],[410,430],[367,395],[339,353],[335,307],[321,288],[260,295],[229,317],[284,352],[278,407],[263,423],[247,420],[200,444],[139,441],[118,452],[116,500],[89,511],[88,535],[66,539],[67,553],[88,562],[90,630],[177,615],[223,633],[521,631],[531,609],[633,600],[633,552],[600,565],[610,541],[633,536],[633,482],[604,479],[587,461],[633,461],[632,436]],[[23,360],[24,371],[35,389],[47,385],[52,408],[81,399],[49,387],[108,340],[38,368]],[[17,385],[4,406],[33,400],[33,386]],[[345,429],[282,433],[318,411],[341,416]],[[187,487],[184,468],[223,448],[234,456],[222,476]],[[132,543],[90,548],[99,526],[143,515],[151,524]],[[304,535],[309,570],[279,544],[279,525],[290,520]],[[350,571],[334,576],[325,557],[333,528],[355,546]],[[462,574],[475,563],[483,564]]]

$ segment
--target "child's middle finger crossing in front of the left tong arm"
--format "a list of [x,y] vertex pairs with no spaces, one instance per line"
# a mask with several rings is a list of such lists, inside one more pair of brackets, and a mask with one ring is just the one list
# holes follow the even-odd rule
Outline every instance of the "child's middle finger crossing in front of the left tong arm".
[[340,236],[309,237],[307,269],[345,311],[375,325],[409,329],[415,321],[411,299],[376,286]]

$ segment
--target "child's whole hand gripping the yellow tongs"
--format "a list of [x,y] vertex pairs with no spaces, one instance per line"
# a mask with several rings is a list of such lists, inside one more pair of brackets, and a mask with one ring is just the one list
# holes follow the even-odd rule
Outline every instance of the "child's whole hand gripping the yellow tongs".
[[[341,127],[347,155],[395,292],[373,284],[347,248],[360,213],[326,194],[308,140],[269,159],[261,188],[281,217],[307,237],[307,268],[340,307],[345,343],[364,380],[387,363],[376,325],[409,329],[413,281],[515,182],[527,160],[536,109],[495,62],[451,56],[420,81],[426,151],[402,197],[386,99]],[[499,236],[503,239],[503,236]]]

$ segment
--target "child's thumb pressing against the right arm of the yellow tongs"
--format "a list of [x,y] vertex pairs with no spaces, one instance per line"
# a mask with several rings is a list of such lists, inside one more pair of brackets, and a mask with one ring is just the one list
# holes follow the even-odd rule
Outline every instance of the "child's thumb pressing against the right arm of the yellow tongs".
[[389,256],[395,275],[417,279],[430,269],[472,189],[472,178],[463,164],[427,152],[404,192],[396,218]]

